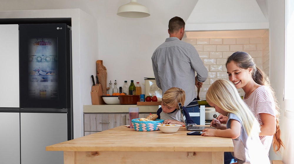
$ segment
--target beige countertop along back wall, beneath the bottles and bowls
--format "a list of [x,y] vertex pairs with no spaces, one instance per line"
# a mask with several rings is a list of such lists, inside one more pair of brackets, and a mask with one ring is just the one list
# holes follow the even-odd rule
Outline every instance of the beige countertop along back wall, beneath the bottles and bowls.
[[83,105],[83,113],[128,113],[129,107],[139,107],[139,112],[156,113],[158,105]]

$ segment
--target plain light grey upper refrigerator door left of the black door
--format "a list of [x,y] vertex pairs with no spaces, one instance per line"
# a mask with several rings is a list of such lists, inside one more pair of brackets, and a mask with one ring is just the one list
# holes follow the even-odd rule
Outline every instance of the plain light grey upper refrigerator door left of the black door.
[[0,25],[0,107],[19,107],[18,25]]

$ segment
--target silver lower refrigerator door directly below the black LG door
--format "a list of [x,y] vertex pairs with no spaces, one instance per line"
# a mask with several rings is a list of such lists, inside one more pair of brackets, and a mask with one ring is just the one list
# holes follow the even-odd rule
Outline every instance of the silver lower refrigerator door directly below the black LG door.
[[66,113],[21,113],[21,164],[63,163],[62,151],[46,146],[67,141]]

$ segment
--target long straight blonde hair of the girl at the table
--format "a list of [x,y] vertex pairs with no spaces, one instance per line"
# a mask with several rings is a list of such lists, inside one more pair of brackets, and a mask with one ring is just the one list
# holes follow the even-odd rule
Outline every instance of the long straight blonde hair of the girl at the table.
[[225,112],[235,114],[241,120],[241,124],[245,127],[248,136],[255,136],[260,133],[258,121],[231,82],[223,79],[216,80],[208,88],[206,100]]

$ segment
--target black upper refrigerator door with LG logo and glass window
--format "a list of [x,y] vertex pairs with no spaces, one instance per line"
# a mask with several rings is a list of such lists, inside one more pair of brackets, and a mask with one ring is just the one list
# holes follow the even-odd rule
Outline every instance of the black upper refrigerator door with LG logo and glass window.
[[71,108],[71,31],[66,24],[19,25],[21,108]]

